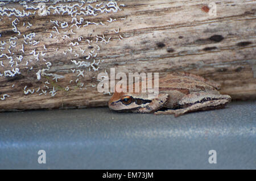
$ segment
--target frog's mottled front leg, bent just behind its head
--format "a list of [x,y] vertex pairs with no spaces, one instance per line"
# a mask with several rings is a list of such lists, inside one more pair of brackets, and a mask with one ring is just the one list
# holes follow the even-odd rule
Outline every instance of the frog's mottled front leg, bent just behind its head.
[[141,107],[138,110],[134,110],[133,112],[138,113],[151,113],[159,110],[164,106],[164,104],[168,101],[168,94],[159,94],[155,99],[153,99],[150,104],[145,107]]

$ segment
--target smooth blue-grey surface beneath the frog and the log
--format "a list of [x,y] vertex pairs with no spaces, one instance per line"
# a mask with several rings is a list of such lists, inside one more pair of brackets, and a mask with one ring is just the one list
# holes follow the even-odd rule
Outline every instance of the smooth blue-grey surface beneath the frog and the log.
[[0,169],[256,169],[255,105],[177,118],[108,108],[0,113]]

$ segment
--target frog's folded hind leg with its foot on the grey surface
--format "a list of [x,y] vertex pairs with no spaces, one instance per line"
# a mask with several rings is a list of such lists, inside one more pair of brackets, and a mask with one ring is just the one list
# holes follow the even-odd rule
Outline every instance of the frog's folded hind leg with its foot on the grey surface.
[[186,112],[206,111],[224,108],[231,100],[229,95],[217,94],[217,92],[193,92],[185,95],[179,105],[182,107],[177,110],[167,110],[155,112],[155,115],[160,114],[175,114],[175,117],[183,115]]

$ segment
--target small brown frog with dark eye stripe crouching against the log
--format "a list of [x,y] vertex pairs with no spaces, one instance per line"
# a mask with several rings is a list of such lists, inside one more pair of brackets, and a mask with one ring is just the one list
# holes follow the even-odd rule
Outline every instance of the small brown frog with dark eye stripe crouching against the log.
[[[140,87],[142,82],[140,82]],[[135,87],[135,86],[134,86]],[[220,85],[191,73],[172,73],[159,78],[159,95],[148,98],[148,92],[123,92],[116,88],[109,100],[109,108],[116,111],[175,114],[223,108],[230,102],[229,95],[221,95]],[[117,92],[119,91],[119,92]],[[123,98],[130,98],[125,104]],[[143,102],[143,103],[142,103]],[[167,111],[159,111],[168,108]]]

